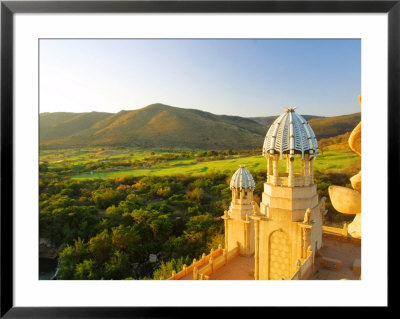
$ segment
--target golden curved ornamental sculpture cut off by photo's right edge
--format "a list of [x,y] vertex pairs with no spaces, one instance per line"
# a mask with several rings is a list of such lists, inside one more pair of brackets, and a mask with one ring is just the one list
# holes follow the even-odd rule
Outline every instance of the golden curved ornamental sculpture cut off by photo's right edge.
[[[358,96],[361,106],[361,95]],[[351,132],[350,148],[361,156],[361,121]],[[350,178],[351,188],[329,186],[329,196],[333,207],[342,214],[355,214],[353,222],[348,226],[349,235],[361,238],[361,171]]]

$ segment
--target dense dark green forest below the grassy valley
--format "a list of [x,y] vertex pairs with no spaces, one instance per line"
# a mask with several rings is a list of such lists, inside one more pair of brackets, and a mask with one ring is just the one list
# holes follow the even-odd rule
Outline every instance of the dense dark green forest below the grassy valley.
[[[39,168],[40,237],[64,245],[57,279],[166,279],[223,245],[231,172],[74,180],[64,169]],[[259,202],[265,172],[251,173]],[[349,186],[350,176],[315,171],[331,224],[353,218],[335,212],[327,193],[331,184]]]

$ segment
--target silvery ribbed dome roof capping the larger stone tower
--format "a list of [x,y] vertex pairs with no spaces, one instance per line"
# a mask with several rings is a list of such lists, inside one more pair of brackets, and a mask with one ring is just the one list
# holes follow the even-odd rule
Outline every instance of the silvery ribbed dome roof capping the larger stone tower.
[[314,131],[307,121],[297,114],[295,108],[286,109],[268,130],[265,136],[263,154],[318,155],[318,144]]

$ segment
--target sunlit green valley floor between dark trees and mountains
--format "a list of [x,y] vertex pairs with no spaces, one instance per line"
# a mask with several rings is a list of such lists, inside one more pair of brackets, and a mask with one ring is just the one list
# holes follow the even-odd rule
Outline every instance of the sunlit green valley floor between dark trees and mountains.
[[[234,172],[246,165],[251,172],[266,171],[267,161],[259,152],[216,155],[211,151],[151,151],[138,149],[67,149],[40,152],[40,161],[48,171],[73,179],[119,178],[127,176],[202,175],[212,171]],[[258,155],[257,155],[258,153]],[[284,169],[283,161],[280,163]],[[326,150],[315,160],[315,170],[323,172],[357,171],[360,157],[348,149]],[[296,170],[300,170],[297,163]]]

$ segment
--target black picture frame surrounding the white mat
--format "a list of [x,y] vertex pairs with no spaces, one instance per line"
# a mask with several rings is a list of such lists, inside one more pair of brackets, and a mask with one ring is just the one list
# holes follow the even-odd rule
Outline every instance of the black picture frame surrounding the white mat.
[[[178,317],[188,308],[14,307],[13,304],[13,20],[15,13],[268,12],[388,14],[388,205],[395,210],[400,138],[400,0],[395,1],[1,1],[1,317]],[[388,216],[389,218],[390,216]],[[390,223],[388,223],[390,225]],[[389,232],[388,232],[389,233]],[[390,240],[388,238],[388,244]],[[388,254],[389,257],[389,254]],[[388,284],[390,281],[388,281]],[[373,292],[371,292],[373,293]],[[389,305],[388,300],[388,305]],[[221,309],[219,309],[221,310]],[[222,314],[215,309],[213,314]],[[186,316],[185,316],[186,317]]]

